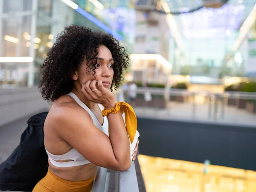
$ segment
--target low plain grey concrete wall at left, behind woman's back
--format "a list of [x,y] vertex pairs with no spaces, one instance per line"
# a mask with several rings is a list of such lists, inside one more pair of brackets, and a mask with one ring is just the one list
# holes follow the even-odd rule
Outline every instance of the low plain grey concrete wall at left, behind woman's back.
[[0,126],[49,110],[37,87],[0,89]]

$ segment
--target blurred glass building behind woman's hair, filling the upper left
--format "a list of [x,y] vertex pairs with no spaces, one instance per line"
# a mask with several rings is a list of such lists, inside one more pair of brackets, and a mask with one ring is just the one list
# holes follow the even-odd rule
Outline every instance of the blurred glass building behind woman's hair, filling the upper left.
[[132,51],[132,5],[129,0],[0,0],[0,86],[38,84],[38,68],[54,37],[70,24],[111,33]]

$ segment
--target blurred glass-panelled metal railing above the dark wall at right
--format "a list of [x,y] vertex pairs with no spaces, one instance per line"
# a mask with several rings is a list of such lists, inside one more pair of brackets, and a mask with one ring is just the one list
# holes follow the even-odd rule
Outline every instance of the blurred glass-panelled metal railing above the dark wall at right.
[[[134,110],[137,116],[229,124],[256,124],[256,93],[190,92],[149,87],[138,87],[136,92]],[[128,90],[122,90],[122,93],[125,98],[128,98]],[[145,93],[151,94],[151,101],[145,101]]]

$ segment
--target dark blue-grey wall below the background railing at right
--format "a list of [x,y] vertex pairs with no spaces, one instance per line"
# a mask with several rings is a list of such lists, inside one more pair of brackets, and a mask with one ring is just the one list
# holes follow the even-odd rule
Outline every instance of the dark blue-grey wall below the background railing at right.
[[138,118],[140,154],[256,171],[256,127]]

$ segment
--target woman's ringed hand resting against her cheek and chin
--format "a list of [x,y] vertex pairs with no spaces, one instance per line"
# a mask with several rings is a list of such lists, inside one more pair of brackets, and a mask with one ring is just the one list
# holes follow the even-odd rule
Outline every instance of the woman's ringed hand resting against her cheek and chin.
[[83,84],[81,91],[87,99],[91,102],[102,104],[105,109],[111,109],[116,106],[115,95],[103,86],[102,80],[87,81]]

